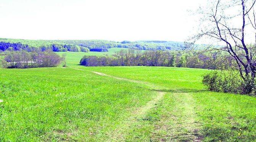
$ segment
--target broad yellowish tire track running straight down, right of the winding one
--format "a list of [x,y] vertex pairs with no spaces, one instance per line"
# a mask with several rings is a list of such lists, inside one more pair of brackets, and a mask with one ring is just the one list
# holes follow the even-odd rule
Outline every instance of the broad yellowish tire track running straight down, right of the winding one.
[[[160,136],[166,141],[201,142],[203,137],[199,133],[200,124],[195,120],[196,106],[190,93],[172,93],[176,100],[169,119],[160,120],[155,131],[166,131]],[[153,136],[154,137],[154,136]]]

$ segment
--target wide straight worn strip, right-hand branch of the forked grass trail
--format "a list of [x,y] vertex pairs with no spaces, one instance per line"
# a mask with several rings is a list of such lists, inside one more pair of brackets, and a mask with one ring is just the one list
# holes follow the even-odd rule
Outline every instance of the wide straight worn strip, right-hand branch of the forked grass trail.
[[[196,118],[196,106],[190,93],[173,93],[177,100],[172,112],[173,128],[170,130],[169,140],[201,141],[199,122]],[[163,122],[165,123],[165,122]]]

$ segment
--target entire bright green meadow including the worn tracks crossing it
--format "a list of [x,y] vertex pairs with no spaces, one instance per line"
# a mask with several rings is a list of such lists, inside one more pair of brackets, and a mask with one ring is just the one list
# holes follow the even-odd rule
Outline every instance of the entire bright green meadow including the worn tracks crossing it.
[[256,98],[206,91],[209,70],[78,66],[82,56],[0,69],[0,141],[256,141]]

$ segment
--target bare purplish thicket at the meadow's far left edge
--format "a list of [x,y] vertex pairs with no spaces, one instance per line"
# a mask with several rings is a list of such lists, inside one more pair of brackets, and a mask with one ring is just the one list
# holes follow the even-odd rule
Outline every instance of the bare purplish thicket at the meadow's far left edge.
[[63,58],[52,52],[52,50],[26,50],[6,52],[2,61],[4,68],[37,68],[55,67],[62,62]]

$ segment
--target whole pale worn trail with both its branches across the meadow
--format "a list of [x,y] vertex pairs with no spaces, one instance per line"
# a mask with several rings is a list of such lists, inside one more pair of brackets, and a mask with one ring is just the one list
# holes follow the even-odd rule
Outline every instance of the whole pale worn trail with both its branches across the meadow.
[[[84,69],[73,68],[81,71],[87,71]],[[99,73],[96,71],[90,71],[94,74],[100,76],[112,77],[119,80],[125,80],[129,82],[135,82],[138,84],[146,85],[149,89],[157,93],[156,97],[149,101],[146,105],[136,109],[132,115],[122,122],[116,129],[110,129],[109,133],[106,134],[104,141],[127,141],[131,139],[131,133],[133,131],[143,131],[144,127],[150,128],[148,137],[144,140],[150,141],[201,141],[202,137],[199,134],[200,125],[196,118],[195,102],[190,93],[174,92],[169,93],[169,97],[172,96],[173,101],[171,103],[175,104],[172,107],[172,111],[166,115],[164,118],[159,118],[159,121],[154,123],[147,123],[147,113],[157,107],[161,107],[161,102],[164,96],[167,94],[164,90],[165,87],[160,87],[159,85],[154,85],[148,82],[143,82],[139,80],[131,80],[121,77],[110,76],[108,74]],[[163,102],[162,102],[163,103]],[[172,105],[170,105],[172,106]],[[152,112],[151,112],[152,113]],[[145,125],[145,126],[143,126]],[[164,134],[161,134],[163,133]],[[146,132],[147,133],[147,132]],[[139,140],[139,136],[132,136],[133,140]]]

